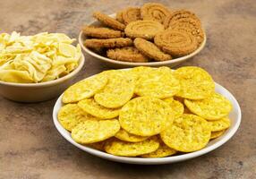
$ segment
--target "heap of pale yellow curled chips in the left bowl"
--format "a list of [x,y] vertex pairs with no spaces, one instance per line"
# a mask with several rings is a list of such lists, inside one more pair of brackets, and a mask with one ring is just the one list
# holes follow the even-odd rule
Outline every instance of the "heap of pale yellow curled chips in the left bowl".
[[38,83],[54,81],[79,64],[81,47],[63,33],[0,34],[0,81]]

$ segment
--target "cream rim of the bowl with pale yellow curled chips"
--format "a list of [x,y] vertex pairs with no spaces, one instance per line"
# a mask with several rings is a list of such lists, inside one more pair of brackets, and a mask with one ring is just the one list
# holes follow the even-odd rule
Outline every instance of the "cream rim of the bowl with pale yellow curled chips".
[[46,82],[38,82],[38,83],[18,83],[18,82],[8,82],[8,81],[0,81],[0,85],[5,86],[13,86],[13,87],[47,87],[52,86],[57,83],[66,81],[72,78],[75,74],[81,71],[83,64],[85,63],[84,55],[81,53],[81,58],[79,59],[78,66],[70,73],[64,75],[59,79],[55,79],[54,81],[46,81]]

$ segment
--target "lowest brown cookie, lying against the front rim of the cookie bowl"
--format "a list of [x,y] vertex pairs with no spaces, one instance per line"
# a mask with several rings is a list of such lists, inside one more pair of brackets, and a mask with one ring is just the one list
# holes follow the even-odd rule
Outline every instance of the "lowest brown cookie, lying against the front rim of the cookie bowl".
[[141,52],[135,47],[108,49],[107,57],[124,62],[149,62],[149,58],[146,55],[142,55]]

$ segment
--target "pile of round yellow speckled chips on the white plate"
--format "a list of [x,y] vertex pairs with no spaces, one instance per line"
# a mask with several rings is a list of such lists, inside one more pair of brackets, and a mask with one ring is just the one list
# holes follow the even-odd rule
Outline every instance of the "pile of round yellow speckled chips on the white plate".
[[74,141],[115,156],[203,149],[230,126],[231,103],[199,67],[110,70],[64,91],[58,121]]

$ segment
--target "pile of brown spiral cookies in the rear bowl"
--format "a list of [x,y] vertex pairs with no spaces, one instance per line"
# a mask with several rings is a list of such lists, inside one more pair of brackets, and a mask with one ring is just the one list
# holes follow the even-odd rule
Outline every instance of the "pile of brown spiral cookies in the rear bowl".
[[117,61],[144,63],[189,55],[200,47],[204,32],[200,19],[187,10],[171,11],[147,3],[128,7],[112,18],[95,12],[99,26],[85,26],[85,47]]

